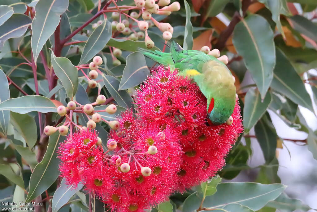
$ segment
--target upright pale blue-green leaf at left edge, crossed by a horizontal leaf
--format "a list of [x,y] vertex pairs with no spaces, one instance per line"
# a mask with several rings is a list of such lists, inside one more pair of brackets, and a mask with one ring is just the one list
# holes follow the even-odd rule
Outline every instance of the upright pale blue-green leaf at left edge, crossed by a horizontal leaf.
[[[9,83],[6,75],[0,69],[0,103],[10,98]],[[0,112],[0,132],[7,134],[10,121],[10,111],[2,110]]]

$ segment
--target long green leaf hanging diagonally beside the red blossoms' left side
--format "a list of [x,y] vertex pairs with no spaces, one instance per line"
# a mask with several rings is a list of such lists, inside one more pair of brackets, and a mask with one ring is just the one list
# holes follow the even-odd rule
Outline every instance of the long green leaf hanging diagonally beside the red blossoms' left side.
[[41,195],[57,179],[59,175],[58,164],[60,163],[60,159],[57,158],[56,149],[63,140],[64,136],[61,136],[58,131],[49,136],[49,144],[43,160],[36,165],[31,174],[29,193],[26,197],[26,202],[30,202],[38,195]]

